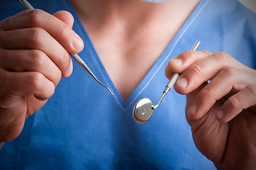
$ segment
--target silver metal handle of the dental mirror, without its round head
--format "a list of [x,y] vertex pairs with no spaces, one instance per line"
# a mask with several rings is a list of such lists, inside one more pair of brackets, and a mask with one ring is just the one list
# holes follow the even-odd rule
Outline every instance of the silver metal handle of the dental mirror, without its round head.
[[[197,49],[197,47],[199,47],[200,43],[201,42],[199,40],[196,40],[194,45],[191,47],[190,51],[195,51]],[[162,102],[162,99],[165,97],[165,95],[168,93],[168,91],[170,89],[172,89],[172,86],[174,86],[174,84],[177,81],[179,75],[180,75],[179,73],[174,73],[172,78],[169,79],[168,84],[165,86],[165,91],[162,92],[162,96],[160,97],[159,101],[157,102],[157,104],[155,106],[151,106],[152,110],[155,110],[160,105],[160,103]]]

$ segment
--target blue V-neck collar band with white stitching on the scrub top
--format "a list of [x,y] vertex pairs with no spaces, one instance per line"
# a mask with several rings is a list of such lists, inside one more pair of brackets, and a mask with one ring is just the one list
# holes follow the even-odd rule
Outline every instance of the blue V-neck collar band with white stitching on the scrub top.
[[[101,59],[99,55],[97,54],[94,45],[92,44],[89,35],[87,34],[87,31],[84,29],[84,26],[82,25],[82,22],[80,21],[79,17],[77,16],[76,11],[74,11],[74,8],[72,7],[72,4],[69,2],[69,0],[62,0],[67,8],[67,11],[72,13],[74,17],[74,25],[77,26],[79,30],[79,35],[84,40],[84,48],[87,48],[89,50],[89,53],[92,57],[91,60],[96,65],[96,68],[99,69],[99,72],[101,75],[97,75],[98,79],[100,79],[101,82],[104,82],[106,86],[113,91],[114,98],[116,98],[116,101],[118,102],[118,105],[121,107],[123,111],[127,111],[128,108],[138,100],[138,96],[147,88],[148,84],[154,79],[155,75],[159,70],[164,66],[165,62],[167,60],[170,60],[170,56],[172,55],[172,52],[174,48],[179,43],[179,40],[183,37],[183,35],[187,32],[189,27],[196,21],[196,18],[199,16],[201,11],[203,11],[204,7],[208,4],[211,0],[201,0],[199,4],[196,6],[194,11],[191,13],[187,21],[183,24],[182,28],[179,30],[179,32],[174,36],[171,42],[169,42],[169,45],[165,48],[164,52],[160,55],[160,57],[157,59],[155,64],[153,64],[152,68],[146,74],[146,76],[143,78],[142,81],[140,81],[140,84],[136,87],[136,89],[133,91],[132,94],[130,94],[128,100],[126,102],[123,101],[123,98],[121,97],[121,94],[116,89],[116,86],[114,86],[113,82],[111,81],[111,78],[109,77],[108,73],[106,72],[106,69],[104,67],[104,64],[101,62]],[[90,67],[90,66],[89,66]],[[101,76],[101,77],[99,77]]]

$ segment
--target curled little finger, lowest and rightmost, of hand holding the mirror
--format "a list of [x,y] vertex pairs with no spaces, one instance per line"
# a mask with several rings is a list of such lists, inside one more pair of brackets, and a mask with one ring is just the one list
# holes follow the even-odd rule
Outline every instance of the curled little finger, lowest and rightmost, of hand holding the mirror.
[[251,84],[234,94],[223,103],[216,113],[216,118],[223,123],[235,118],[243,109],[256,105],[256,85]]

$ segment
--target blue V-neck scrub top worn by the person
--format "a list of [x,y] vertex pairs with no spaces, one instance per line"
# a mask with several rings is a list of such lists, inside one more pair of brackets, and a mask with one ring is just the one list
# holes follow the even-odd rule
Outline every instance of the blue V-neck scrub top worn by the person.
[[[169,91],[143,125],[133,120],[133,106],[140,98],[157,103],[168,82],[165,66],[196,40],[201,40],[198,50],[227,52],[255,68],[254,13],[235,0],[202,0],[124,102],[69,1],[30,4],[49,13],[72,13],[73,29],[84,40],[79,56],[115,96],[73,62],[71,77],[62,79],[48,103],[26,120],[21,135],[5,142],[0,169],[216,169],[194,145],[184,115],[185,96]],[[0,18],[23,10],[19,1],[4,1]]]

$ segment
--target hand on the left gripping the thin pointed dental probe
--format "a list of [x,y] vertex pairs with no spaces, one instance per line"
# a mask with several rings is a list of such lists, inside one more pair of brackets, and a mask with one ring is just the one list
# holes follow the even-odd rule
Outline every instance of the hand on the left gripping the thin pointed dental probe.
[[84,43],[67,11],[28,10],[0,22],[0,144],[16,138],[25,119],[45,105],[61,77],[72,73],[69,53]]

